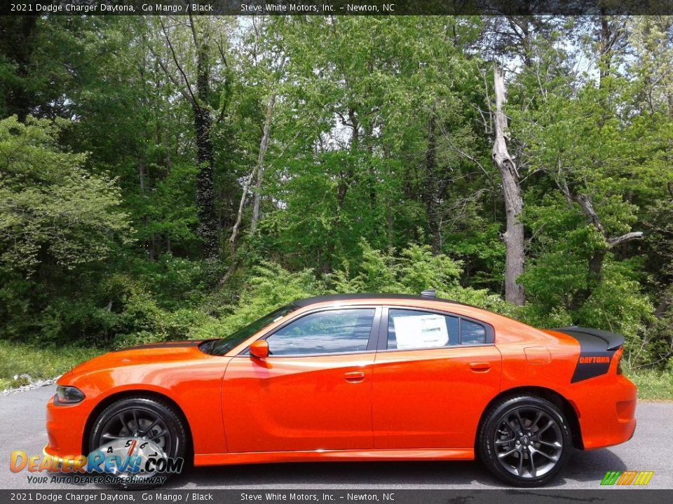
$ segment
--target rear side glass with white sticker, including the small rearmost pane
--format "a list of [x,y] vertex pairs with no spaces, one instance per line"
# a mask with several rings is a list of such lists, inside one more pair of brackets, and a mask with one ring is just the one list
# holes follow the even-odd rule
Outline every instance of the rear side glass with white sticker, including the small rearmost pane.
[[388,350],[426,349],[487,342],[489,342],[487,328],[466,318],[431,311],[388,309]]

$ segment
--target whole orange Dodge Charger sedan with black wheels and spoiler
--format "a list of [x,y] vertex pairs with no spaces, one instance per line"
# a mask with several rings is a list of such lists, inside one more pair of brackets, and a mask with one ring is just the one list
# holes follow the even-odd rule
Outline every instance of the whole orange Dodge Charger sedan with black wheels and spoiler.
[[47,405],[44,451],[62,458],[140,437],[196,466],[478,456],[505,482],[536,486],[573,447],[632,437],[637,391],[619,367],[623,344],[433,290],[312,297],[229,337],[144,344],[75,367]]

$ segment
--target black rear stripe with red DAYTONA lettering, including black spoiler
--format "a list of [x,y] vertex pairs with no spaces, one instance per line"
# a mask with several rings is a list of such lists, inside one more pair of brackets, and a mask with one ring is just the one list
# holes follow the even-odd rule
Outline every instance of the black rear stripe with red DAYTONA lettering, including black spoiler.
[[580,344],[580,355],[571,383],[606,374],[615,352],[624,344],[624,337],[613,332],[578,327],[555,330],[572,336]]

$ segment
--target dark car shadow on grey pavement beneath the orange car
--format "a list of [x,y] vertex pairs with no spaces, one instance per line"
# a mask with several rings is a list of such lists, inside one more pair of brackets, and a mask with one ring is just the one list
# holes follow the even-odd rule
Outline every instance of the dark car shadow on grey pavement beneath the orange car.
[[[608,470],[625,470],[623,461],[609,449],[574,450],[560,477],[551,487],[586,487],[577,482],[596,482]],[[508,488],[476,462],[324,462],[229,465],[189,468],[169,479],[165,488],[383,488],[470,486]]]

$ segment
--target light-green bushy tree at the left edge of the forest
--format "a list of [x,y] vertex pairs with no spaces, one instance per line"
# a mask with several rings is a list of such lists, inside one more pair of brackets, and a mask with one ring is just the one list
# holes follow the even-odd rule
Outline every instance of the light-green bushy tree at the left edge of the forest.
[[59,130],[46,120],[0,121],[3,335],[21,335],[49,293],[77,285],[131,239],[116,181],[88,174],[84,155],[57,145]]

